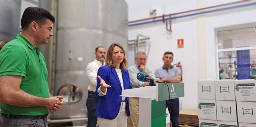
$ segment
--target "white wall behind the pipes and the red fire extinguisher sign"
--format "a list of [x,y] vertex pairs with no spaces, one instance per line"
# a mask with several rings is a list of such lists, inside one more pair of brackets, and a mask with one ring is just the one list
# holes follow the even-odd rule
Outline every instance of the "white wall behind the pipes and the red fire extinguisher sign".
[[[152,9],[157,16],[230,3],[237,0],[126,0],[129,21],[148,18]],[[255,2],[253,0],[252,2]],[[186,15],[186,14],[181,14]],[[178,16],[181,16],[178,15]],[[197,80],[217,79],[216,36],[214,28],[256,22],[256,6],[191,16],[172,20],[173,32],[165,30],[162,22],[129,27],[129,40],[137,34],[150,36],[147,67],[153,71],[163,66],[165,51],[174,53],[174,62],[181,61],[185,96],[180,98],[180,109],[197,109]],[[177,39],[184,39],[184,48],[177,48]],[[204,48],[204,49],[198,49]],[[129,63],[134,64],[133,48],[129,47]],[[131,65],[129,65],[131,66]]]

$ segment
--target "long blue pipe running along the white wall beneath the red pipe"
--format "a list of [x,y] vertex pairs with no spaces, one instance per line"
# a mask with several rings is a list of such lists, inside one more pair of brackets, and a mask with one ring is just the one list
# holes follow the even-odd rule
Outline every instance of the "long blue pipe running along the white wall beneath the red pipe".
[[[215,10],[210,10],[210,11],[204,11],[204,12],[199,12],[199,13],[193,13],[193,14],[188,14],[188,15],[183,15],[183,16],[176,16],[176,17],[172,17],[171,19],[183,18],[183,17],[188,17],[188,16],[195,16],[195,15],[199,15],[199,14],[205,14],[205,13],[211,13],[211,12],[217,12],[217,11],[223,11],[223,10],[230,10],[230,9],[234,9],[234,8],[247,7],[247,6],[253,6],[253,5],[256,5],[256,2],[249,3],[249,4],[238,5],[238,6],[233,6],[233,7],[220,8],[220,9],[215,9]],[[164,20],[168,20],[168,19],[169,18],[164,18]],[[136,26],[136,25],[155,23],[155,22],[159,22],[159,21],[163,21],[163,19],[154,20],[154,21],[146,21],[146,22],[142,22],[142,23],[129,24],[128,26],[132,27],[132,26]]]

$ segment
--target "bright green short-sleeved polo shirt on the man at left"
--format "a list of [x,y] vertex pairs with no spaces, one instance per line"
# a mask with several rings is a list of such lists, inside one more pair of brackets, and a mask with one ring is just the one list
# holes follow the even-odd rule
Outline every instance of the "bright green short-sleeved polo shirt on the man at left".
[[[21,90],[38,97],[50,97],[45,58],[39,48],[21,34],[4,45],[0,51],[0,76],[2,75],[23,76]],[[49,111],[43,106],[24,108],[5,103],[0,103],[0,108],[4,114],[28,116],[43,115]]]

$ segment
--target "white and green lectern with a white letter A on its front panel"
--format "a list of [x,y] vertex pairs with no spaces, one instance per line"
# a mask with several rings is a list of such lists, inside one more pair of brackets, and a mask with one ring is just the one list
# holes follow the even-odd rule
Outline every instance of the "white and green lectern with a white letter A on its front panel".
[[140,127],[165,127],[165,100],[184,97],[184,83],[157,83],[156,86],[126,89],[121,96],[140,98]]

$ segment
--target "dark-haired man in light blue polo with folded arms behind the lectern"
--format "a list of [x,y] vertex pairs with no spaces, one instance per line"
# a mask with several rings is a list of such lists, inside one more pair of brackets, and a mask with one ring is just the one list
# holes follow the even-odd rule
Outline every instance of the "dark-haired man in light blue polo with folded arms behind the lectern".
[[[172,66],[173,52],[165,52],[163,56],[164,65],[155,70],[155,76],[160,82],[179,83],[181,81],[180,68]],[[179,127],[179,99],[166,100],[166,107],[171,117],[172,127]]]

